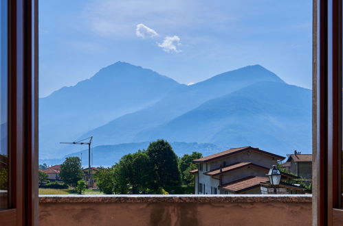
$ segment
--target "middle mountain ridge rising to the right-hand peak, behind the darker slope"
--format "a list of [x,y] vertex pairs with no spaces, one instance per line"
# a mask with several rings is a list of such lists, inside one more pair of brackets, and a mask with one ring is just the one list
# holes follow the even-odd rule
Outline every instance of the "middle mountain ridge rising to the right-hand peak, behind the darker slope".
[[[142,131],[164,125],[210,99],[227,95],[260,81],[285,84],[276,74],[263,66],[246,66],[216,75],[192,86],[179,86],[154,105],[115,118],[106,125],[92,129],[82,137],[94,136],[96,145],[142,142],[145,140],[137,135]],[[186,138],[187,136],[184,139]]]

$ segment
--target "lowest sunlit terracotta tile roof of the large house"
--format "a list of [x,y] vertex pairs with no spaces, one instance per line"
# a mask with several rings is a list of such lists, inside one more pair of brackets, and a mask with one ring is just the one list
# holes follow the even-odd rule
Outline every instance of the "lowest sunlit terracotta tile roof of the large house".
[[219,186],[219,188],[222,188],[224,190],[230,190],[230,192],[244,192],[245,190],[250,190],[252,188],[256,188],[260,186],[261,182],[267,182],[269,181],[268,177],[245,177],[243,179],[238,179],[236,181],[232,181],[227,184],[223,184],[222,186]]

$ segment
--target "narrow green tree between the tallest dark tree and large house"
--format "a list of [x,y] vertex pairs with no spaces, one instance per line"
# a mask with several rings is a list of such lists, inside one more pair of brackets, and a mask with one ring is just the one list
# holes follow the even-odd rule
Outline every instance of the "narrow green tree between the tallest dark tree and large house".
[[185,154],[179,159],[179,169],[181,172],[182,184],[194,186],[194,175],[190,174],[189,172],[196,169],[198,166],[192,161],[202,157],[202,153],[193,151],[190,155]]

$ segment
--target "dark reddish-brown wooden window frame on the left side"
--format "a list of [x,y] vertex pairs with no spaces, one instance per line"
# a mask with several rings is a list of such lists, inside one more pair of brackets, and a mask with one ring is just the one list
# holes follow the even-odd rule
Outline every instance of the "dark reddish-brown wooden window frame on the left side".
[[0,225],[38,225],[38,0],[8,0],[9,209]]

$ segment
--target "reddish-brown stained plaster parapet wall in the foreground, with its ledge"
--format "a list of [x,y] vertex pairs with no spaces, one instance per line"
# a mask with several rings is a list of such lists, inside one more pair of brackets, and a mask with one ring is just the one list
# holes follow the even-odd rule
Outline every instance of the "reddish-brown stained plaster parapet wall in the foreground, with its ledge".
[[311,225],[310,196],[165,197],[41,198],[39,225]]

